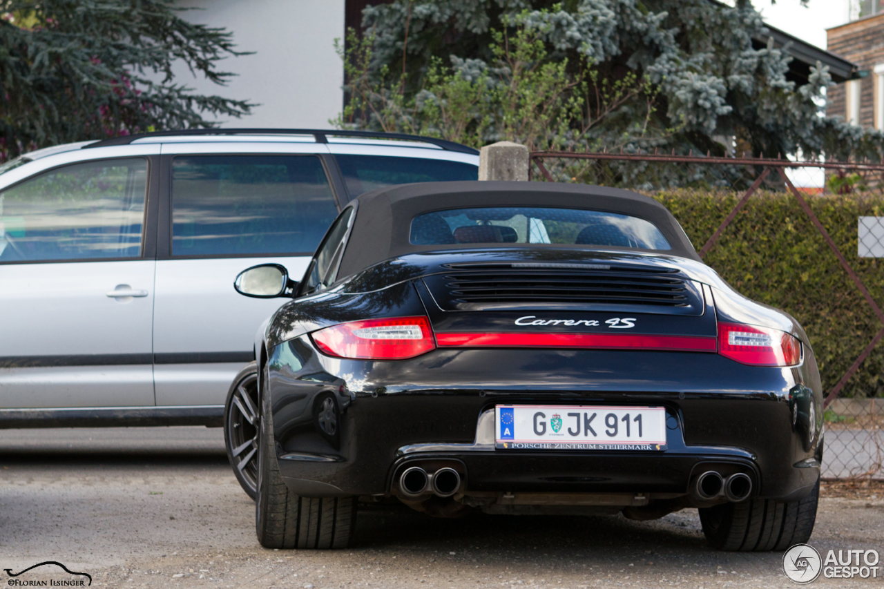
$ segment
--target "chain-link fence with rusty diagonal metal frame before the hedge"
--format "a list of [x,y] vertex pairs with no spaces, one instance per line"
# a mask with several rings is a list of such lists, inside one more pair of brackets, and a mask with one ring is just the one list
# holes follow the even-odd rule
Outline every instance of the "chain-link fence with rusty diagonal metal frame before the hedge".
[[884,163],[535,152],[533,180],[624,187],[671,210],[700,256],[810,337],[824,478],[884,478]]

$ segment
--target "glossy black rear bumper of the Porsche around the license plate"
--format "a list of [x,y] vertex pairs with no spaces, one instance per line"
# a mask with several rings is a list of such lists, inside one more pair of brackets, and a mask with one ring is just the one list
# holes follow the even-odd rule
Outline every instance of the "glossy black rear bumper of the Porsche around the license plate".
[[[286,361],[292,357],[297,365]],[[714,354],[518,349],[372,363],[322,356],[301,338],[277,348],[266,375],[279,470],[306,496],[389,494],[401,470],[426,461],[462,464],[469,493],[688,493],[693,475],[716,466],[749,474],[753,494],[794,500],[819,477],[812,458],[821,424],[811,436],[796,419],[802,402],[821,402],[804,367],[749,367]],[[339,411],[334,435],[316,421],[329,397]],[[667,448],[495,450],[480,417],[497,403],[663,406]]]

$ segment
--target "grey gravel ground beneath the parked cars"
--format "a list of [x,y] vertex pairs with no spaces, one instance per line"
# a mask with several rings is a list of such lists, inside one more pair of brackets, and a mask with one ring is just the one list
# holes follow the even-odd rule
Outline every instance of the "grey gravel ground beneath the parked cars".
[[[258,546],[220,430],[0,431],[0,570],[64,562],[111,587],[792,587],[781,553],[705,546],[697,512],[434,519],[360,513],[351,549]],[[842,487],[842,486],[841,486]],[[829,486],[811,544],[884,553],[884,487]],[[825,553],[823,553],[825,554]],[[67,579],[50,567],[21,578]],[[0,573],[0,583],[7,576]],[[826,580],[819,586],[881,586]]]

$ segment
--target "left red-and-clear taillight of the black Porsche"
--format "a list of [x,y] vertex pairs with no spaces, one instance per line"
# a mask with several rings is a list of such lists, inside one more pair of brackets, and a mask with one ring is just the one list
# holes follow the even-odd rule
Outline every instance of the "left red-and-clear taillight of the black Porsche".
[[325,354],[357,360],[404,360],[436,348],[427,317],[351,321],[311,336]]

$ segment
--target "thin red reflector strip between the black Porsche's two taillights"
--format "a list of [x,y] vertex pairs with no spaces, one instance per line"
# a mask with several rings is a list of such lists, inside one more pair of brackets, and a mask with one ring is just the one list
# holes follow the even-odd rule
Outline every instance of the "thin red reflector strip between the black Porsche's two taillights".
[[612,348],[714,352],[715,338],[637,333],[437,333],[439,348]]

